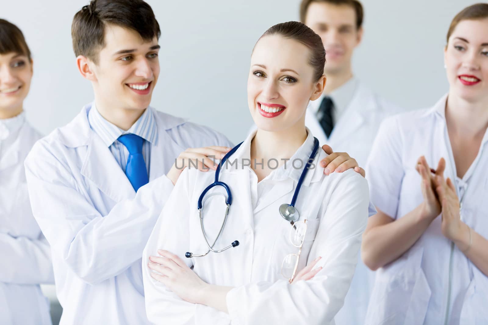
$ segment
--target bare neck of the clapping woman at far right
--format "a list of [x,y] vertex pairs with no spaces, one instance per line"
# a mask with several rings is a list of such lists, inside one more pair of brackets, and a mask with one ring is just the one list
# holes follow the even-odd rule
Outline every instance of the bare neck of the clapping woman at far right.
[[478,102],[469,102],[449,93],[446,103],[447,129],[463,137],[478,137],[488,127],[488,97]]

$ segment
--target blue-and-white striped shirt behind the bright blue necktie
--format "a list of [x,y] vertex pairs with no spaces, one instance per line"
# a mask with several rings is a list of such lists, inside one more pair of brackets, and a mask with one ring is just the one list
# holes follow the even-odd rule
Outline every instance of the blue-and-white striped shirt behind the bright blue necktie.
[[156,145],[158,140],[158,128],[156,127],[156,119],[151,107],[148,107],[141,117],[130,127],[128,131],[107,121],[97,110],[95,102],[88,112],[88,122],[90,127],[96,134],[98,134],[103,143],[110,149],[115,160],[125,172],[125,165],[129,157],[129,151],[117,139],[122,134],[136,134],[144,139],[142,145],[142,156],[146,163],[147,175],[149,175],[149,163],[151,161],[151,144]]

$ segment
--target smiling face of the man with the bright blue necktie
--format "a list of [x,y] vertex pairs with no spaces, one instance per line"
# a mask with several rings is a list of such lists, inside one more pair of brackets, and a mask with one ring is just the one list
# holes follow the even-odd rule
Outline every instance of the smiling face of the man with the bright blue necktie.
[[111,110],[144,110],[160,71],[158,39],[147,42],[132,29],[106,25],[104,43],[85,76],[93,81],[97,102]]

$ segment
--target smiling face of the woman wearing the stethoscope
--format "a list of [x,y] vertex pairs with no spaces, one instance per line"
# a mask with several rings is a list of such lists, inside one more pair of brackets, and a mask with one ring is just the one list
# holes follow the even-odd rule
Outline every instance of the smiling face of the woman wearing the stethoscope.
[[269,35],[258,41],[247,79],[247,102],[258,129],[279,132],[305,126],[308,101],[322,94],[325,83],[325,77],[313,80],[309,55],[294,39]]

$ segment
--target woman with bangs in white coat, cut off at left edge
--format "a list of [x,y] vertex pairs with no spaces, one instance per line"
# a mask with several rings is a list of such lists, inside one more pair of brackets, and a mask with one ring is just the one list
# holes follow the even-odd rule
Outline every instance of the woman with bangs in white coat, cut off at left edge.
[[32,58],[14,24],[0,19],[0,324],[51,324],[40,283],[54,283],[49,245],[32,216],[23,161],[41,135],[25,120]]

